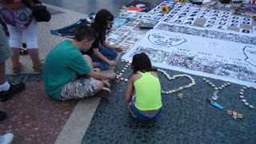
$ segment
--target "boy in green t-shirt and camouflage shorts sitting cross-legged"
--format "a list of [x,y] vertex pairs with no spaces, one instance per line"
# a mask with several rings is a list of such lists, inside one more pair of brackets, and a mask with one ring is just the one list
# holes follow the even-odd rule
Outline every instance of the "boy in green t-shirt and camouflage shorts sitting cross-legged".
[[88,55],[97,33],[87,25],[78,26],[73,40],[66,40],[55,46],[46,56],[43,80],[46,93],[54,99],[80,99],[99,95],[106,97],[110,90],[107,78],[115,78],[115,73],[100,74],[92,70]]

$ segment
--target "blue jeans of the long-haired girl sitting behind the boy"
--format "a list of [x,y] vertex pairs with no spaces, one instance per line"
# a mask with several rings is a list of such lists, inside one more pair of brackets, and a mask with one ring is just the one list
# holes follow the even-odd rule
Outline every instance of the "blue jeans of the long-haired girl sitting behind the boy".
[[[115,58],[118,57],[118,52],[115,50],[106,48],[105,46],[102,46],[101,48],[98,49],[98,51],[104,55],[104,57],[108,58],[109,60],[114,60]],[[99,59],[95,54],[90,54],[90,58],[93,60],[93,62],[97,62],[99,68],[102,70],[109,70],[110,65],[101,59]]]

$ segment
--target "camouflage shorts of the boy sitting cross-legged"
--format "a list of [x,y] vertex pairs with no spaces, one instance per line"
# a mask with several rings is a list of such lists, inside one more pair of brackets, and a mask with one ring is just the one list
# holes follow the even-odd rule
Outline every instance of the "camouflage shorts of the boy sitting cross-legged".
[[62,100],[80,99],[94,95],[97,91],[94,78],[71,78],[60,92]]

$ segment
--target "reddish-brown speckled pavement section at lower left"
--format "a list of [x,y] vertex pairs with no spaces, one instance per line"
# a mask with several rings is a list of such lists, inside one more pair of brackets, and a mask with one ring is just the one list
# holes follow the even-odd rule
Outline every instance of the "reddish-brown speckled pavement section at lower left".
[[0,134],[13,133],[17,144],[53,143],[77,102],[55,101],[46,95],[42,82],[26,82],[26,90],[0,103],[7,112]]

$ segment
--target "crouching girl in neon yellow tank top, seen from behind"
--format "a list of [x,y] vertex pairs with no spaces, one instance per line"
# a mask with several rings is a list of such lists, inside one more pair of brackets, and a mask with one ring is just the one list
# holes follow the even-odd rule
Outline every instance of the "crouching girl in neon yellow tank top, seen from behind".
[[157,70],[152,68],[150,58],[145,53],[135,54],[131,66],[134,72],[126,90],[126,102],[130,102],[128,109],[135,118],[155,118],[162,107]]

